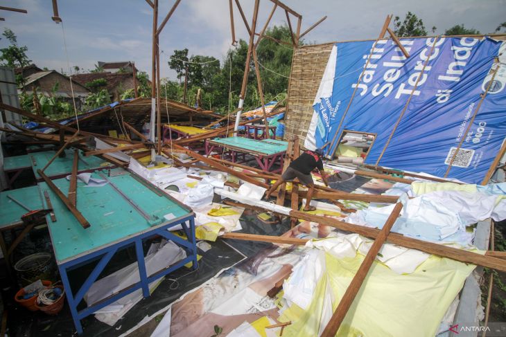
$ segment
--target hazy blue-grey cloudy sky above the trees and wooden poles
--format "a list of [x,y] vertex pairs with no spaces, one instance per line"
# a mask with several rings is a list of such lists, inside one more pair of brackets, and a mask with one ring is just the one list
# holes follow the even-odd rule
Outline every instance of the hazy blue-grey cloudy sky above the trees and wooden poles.
[[[174,0],[159,0],[161,21]],[[375,39],[388,14],[404,17],[409,11],[424,20],[427,30],[436,33],[464,24],[481,33],[494,32],[506,21],[506,0],[285,0],[302,14],[302,31],[327,15],[306,43],[324,43],[349,39]],[[150,73],[152,9],[144,0],[59,0],[61,24],[51,20],[51,0],[2,0],[2,6],[24,8],[28,14],[0,11],[1,30],[10,28],[21,46],[28,46],[28,57],[37,66],[68,72],[63,31],[67,41],[69,64],[94,69],[98,61],[134,61],[137,68]],[[241,0],[251,23],[254,0]],[[259,28],[272,8],[261,0]],[[247,39],[243,21],[234,12],[236,36]],[[277,10],[272,24],[285,24],[286,16]],[[293,19],[295,24],[295,19]],[[392,26],[391,26],[392,27]],[[166,61],[174,49],[189,48],[190,55],[212,55],[223,60],[231,44],[227,0],[182,0],[160,35],[162,77],[175,79]],[[0,47],[6,46],[0,40]]]

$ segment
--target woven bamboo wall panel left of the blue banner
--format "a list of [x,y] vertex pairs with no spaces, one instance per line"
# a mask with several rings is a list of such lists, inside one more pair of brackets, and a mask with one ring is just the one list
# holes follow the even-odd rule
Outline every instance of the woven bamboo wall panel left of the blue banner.
[[317,44],[295,49],[288,88],[285,139],[297,136],[304,144],[313,116],[313,101],[333,45]]

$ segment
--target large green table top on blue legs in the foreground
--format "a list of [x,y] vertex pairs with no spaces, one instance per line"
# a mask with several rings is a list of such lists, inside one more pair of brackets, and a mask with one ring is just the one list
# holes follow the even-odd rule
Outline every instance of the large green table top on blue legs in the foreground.
[[[134,179],[129,172],[115,169],[112,173],[121,175],[110,176],[107,179],[154,220],[147,221],[142,217],[128,201],[121,197],[119,192],[112,188],[110,183],[102,187],[89,187],[82,181],[78,181],[76,206],[91,225],[85,229],[49,186],[46,183],[40,183],[41,193],[47,190],[53,203],[56,221],[51,222],[49,215],[46,220],[56,261],[59,264],[124,241],[191,213],[170,197],[157,195]],[[107,176],[105,170],[103,175]],[[91,177],[101,179],[98,172],[94,172]],[[67,195],[69,190],[67,179],[55,179],[53,183]]]

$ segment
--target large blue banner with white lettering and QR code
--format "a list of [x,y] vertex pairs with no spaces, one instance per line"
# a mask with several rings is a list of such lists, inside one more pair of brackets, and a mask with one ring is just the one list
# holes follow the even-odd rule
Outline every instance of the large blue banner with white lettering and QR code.
[[506,136],[506,65],[494,62],[506,57],[504,44],[473,37],[401,39],[401,44],[408,59],[392,40],[378,41],[358,85],[374,41],[335,44],[304,145],[313,149],[331,142],[326,153],[333,154],[343,130],[368,132],[376,140],[365,163],[376,164],[388,143],[378,165],[444,176],[464,138],[448,177],[481,183]]

